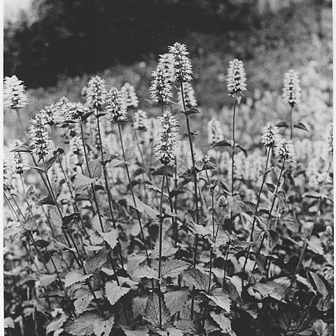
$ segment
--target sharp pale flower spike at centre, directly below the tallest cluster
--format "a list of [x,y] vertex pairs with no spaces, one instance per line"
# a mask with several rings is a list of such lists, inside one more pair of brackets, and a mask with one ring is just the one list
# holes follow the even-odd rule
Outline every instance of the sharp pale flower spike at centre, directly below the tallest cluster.
[[154,146],[154,156],[167,165],[174,160],[179,148],[179,122],[170,111],[164,111],[160,121],[158,139]]

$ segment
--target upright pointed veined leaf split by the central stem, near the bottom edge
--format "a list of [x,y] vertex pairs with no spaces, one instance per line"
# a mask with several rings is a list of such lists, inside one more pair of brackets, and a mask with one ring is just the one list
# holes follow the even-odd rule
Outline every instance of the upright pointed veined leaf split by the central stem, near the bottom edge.
[[[144,318],[146,321],[151,323],[155,328],[160,328],[160,304],[159,304],[158,294],[152,292],[148,297],[148,301],[146,304],[145,315]],[[169,325],[171,316],[169,314],[169,310],[165,304],[165,301],[161,301],[161,309],[162,309],[162,328],[165,329]]]

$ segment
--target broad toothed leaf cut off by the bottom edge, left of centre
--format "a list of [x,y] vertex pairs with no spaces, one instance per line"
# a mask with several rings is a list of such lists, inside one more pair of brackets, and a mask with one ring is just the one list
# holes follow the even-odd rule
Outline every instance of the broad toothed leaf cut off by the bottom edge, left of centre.
[[74,321],[66,323],[64,331],[74,336],[87,336],[94,332],[94,320],[99,318],[96,311],[87,311],[78,316]]

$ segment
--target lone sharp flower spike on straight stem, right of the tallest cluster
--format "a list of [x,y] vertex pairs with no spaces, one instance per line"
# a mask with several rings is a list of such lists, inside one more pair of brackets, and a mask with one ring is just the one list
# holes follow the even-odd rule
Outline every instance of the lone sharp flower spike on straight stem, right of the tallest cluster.
[[244,69],[244,63],[239,59],[233,59],[229,62],[227,87],[229,96],[237,96],[242,91],[247,90],[246,86],[246,72]]

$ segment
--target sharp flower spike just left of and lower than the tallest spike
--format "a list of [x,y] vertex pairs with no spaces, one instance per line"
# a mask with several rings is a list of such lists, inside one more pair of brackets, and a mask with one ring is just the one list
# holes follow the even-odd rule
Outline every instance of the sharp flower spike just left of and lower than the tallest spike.
[[152,77],[151,87],[149,88],[152,101],[159,105],[172,104],[172,82],[169,73],[162,66],[157,66],[152,72]]

